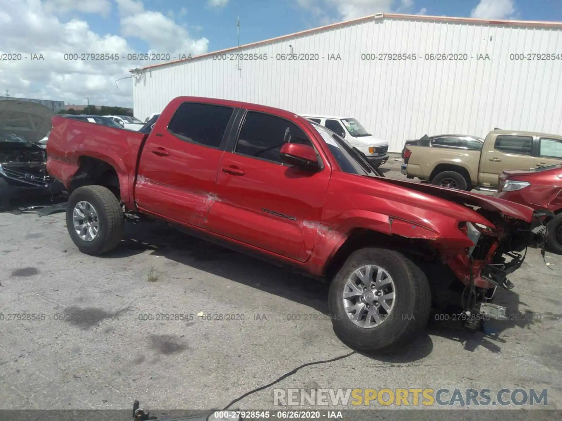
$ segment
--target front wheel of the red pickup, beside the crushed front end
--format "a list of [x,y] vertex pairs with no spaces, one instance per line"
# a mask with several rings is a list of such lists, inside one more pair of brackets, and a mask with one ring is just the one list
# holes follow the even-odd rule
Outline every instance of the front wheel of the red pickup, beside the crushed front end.
[[328,305],[342,342],[389,354],[424,330],[431,293],[425,274],[404,254],[365,248],[354,251],[334,277]]

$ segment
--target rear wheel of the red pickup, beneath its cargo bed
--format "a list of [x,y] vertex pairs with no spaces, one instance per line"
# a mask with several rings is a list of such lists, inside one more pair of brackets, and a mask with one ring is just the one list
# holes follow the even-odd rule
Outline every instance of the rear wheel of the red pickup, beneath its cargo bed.
[[66,226],[82,253],[99,255],[115,249],[123,238],[124,221],[119,200],[107,187],[79,187],[70,195]]

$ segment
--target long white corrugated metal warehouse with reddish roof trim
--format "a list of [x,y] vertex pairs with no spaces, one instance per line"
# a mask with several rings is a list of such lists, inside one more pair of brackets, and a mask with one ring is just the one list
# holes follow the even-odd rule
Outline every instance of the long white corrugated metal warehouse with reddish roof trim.
[[562,22],[378,13],[132,73],[141,120],[195,95],[354,117],[390,152],[424,134],[562,133]]

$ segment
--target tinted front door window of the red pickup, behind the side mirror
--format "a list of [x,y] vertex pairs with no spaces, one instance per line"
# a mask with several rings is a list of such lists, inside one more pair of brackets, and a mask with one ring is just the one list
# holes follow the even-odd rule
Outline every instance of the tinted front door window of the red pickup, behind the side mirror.
[[234,152],[281,163],[279,150],[285,143],[314,148],[300,127],[284,118],[248,111]]

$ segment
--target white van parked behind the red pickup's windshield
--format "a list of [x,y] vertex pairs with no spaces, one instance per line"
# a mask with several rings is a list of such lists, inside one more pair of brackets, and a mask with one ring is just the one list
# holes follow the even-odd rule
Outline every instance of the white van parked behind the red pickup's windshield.
[[301,114],[301,116],[342,136],[353,147],[364,153],[373,166],[378,167],[388,161],[388,141],[375,138],[355,118],[314,114]]

